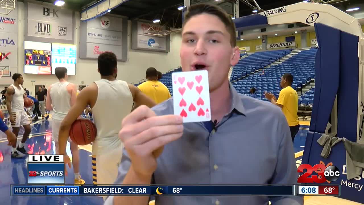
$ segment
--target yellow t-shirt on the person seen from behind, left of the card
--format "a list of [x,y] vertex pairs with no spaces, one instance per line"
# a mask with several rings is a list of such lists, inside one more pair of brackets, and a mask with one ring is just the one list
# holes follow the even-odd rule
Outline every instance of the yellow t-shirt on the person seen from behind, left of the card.
[[138,88],[157,104],[171,97],[168,88],[159,81],[146,81],[138,85]]

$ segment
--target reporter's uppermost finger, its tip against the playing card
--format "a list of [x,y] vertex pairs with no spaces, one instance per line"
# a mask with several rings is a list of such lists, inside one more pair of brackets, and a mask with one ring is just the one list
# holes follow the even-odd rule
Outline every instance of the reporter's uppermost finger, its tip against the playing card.
[[123,137],[123,135],[134,136],[143,131],[149,130],[149,128],[160,127],[165,125],[182,125],[182,124],[183,124],[183,119],[178,115],[163,115],[163,116],[149,117],[146,120],[134,123],[132,125],[129,125],[126,129],[121,130],[120,137]]

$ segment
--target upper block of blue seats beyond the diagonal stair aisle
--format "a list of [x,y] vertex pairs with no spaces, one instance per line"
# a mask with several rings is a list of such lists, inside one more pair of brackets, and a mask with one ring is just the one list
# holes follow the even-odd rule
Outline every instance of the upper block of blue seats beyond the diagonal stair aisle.
[[[245,58],[242,58],[237,65],[233,67],[233,72],[230,77],[230,81],[238,81],[242,77],[246,77],[250,74],[255,73],[259,69],[268,66],[274,61],[285,57],[289,54],[289,50],[274,50],[274,51],[264,51],[249,54]],[[242,57],[242,56],[241,56]]]

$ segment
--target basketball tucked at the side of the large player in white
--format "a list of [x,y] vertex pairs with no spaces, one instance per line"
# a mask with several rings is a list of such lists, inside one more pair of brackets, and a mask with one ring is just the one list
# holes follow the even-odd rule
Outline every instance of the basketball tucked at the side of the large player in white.
[[96,133],[96,126],[91,120],[77,119],[71,126],[70,138],[78,145],[86,145],[95,140]]

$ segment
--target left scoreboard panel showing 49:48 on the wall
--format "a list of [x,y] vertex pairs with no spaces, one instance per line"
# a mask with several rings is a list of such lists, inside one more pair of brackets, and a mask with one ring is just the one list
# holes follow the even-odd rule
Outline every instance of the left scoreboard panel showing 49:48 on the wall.
[[24,41],[24,73],[52,74],[52,44]]

